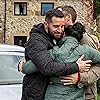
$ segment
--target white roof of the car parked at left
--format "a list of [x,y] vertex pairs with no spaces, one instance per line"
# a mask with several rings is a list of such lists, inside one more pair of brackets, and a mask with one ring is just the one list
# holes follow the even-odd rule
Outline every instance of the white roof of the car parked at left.
[[0,51],[24,52],[25,48],[16,45],[0,44]]

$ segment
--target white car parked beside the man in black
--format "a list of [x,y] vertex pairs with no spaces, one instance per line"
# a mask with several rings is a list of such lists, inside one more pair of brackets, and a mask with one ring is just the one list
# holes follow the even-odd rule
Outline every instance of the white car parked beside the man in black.
[[21,100],[23,74],[18,62],[24,47],[0,44],[0,100]]

